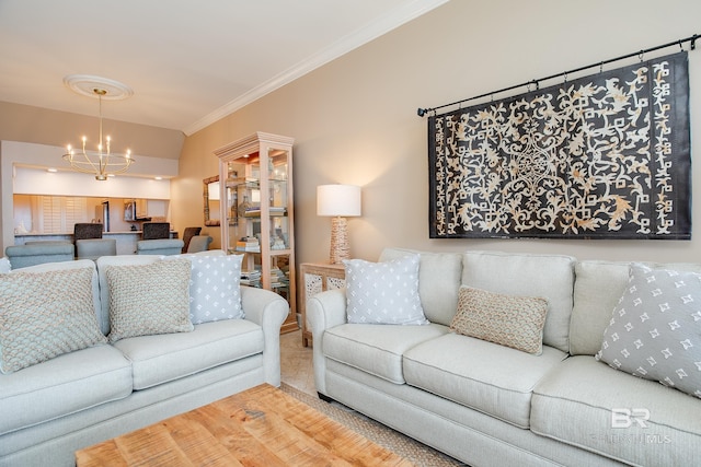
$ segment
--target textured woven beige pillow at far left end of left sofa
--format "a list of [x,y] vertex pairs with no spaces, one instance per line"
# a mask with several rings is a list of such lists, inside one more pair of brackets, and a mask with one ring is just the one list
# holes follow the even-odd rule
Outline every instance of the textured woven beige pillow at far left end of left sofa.
[[0,276],[0,372],[104,343],[92,295],[94,267]]

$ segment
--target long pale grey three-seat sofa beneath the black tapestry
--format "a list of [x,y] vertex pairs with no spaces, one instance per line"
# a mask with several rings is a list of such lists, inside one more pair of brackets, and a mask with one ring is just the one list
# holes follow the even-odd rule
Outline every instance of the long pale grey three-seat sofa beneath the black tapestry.
[[[389,248],[380,260],[415,253]],[[595,358],[629,270],[558,255],[421,253],[428,325],[347,323],[346,289],[309,301],[317,389],[471,466],[698,465],[701,400]],[[461,285],[547,299],[542,352],[452,332]]]

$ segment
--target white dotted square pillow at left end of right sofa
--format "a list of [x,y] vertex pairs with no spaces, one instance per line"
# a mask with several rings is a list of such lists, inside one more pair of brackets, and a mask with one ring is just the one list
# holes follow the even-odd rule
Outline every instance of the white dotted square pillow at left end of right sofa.
[[345,259],[348,323],[426,325],[418,295],[420,255],[384,262]]

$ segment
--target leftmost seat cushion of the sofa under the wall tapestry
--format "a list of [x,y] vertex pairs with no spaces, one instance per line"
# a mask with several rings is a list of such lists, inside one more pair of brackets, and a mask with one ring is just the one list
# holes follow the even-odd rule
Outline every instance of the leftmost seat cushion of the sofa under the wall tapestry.
[[448,328],[427,326],[375,326],[344,324],[327,329],[323,353],[332,360],[363,370],[395,384],[404,384],[402,355],[412,347],[443,336]]

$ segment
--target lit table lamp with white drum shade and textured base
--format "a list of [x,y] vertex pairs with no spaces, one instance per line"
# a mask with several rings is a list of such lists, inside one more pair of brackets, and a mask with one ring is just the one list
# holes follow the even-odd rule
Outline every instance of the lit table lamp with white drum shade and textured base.
[[332,265],[350,257],[346,217],[360,215],[360,187],[356,185],[320,185],[317,187],[317,215],[330,215]]

